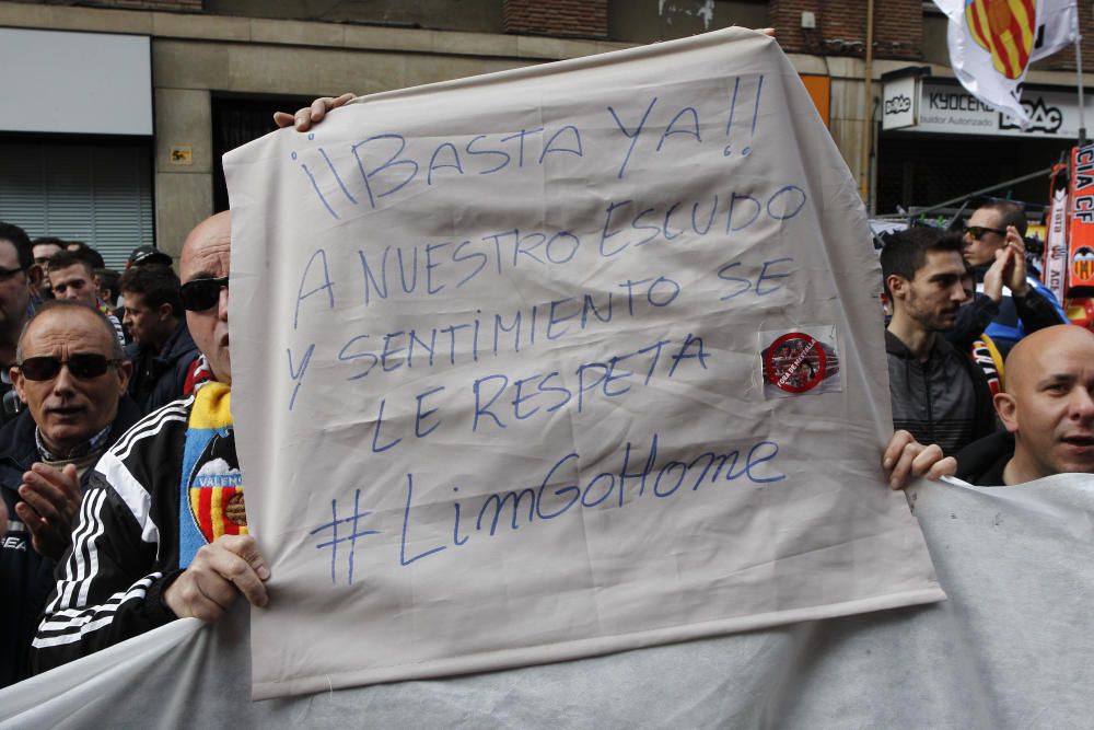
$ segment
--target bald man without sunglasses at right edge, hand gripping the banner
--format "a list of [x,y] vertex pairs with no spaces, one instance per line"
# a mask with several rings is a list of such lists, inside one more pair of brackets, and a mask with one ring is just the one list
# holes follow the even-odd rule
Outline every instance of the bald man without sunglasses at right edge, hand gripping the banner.
[[994,406],[1004,430],[968,444],[956,461],[897,431],[882,459],[891,486],[943,474],[980,487],[1094,474],[1094,333],[1057,325],[1027,335],[1006,358],[1006,391]]

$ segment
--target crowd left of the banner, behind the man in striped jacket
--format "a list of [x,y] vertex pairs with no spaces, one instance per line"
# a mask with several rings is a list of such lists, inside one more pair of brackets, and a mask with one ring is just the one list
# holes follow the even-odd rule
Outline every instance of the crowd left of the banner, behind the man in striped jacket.
[[28,672],[95,464],[211,376],[172,266],[140,246],[112,277],[84,243],[0,222],[0,686]]

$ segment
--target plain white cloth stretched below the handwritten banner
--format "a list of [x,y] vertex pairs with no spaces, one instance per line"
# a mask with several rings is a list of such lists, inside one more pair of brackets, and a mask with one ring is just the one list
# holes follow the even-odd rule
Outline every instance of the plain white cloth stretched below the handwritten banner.
[[235,611],[9,687],[0,728],[1089,726],[1094,479],[910,495],[950,601],[258,703]]

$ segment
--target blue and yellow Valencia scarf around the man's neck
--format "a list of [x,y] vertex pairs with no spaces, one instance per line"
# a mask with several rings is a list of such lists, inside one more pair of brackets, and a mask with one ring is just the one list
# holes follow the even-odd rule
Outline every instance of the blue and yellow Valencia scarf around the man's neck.
[[178,567],[221,535],[247,534],[243,475],[235,455],[232,389],[211,381],[194,396],[179,482]]

